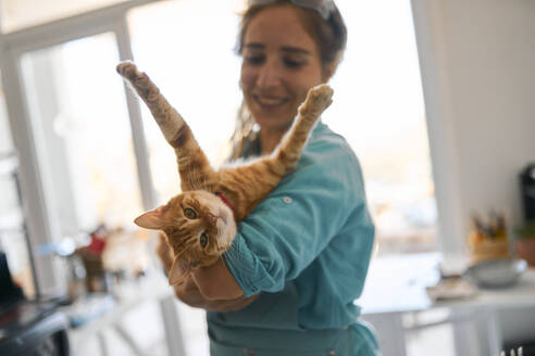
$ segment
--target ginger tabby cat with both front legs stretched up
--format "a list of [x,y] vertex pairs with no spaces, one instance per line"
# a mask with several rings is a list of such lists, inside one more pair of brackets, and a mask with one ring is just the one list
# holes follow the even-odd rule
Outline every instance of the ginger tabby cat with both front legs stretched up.
[[129,61],[120,63],[116,69],[145,101],[175,150],[183,193],[134,223],[164,232],[174,255],[169,281],[176,284],[195,268],[215,263],[231,246],[236,221],[295,168],[315,122],[332,103],[333,90],[327,85],[309,90],[294,125],[272,154],[214,170],[189,126],[147,74]]

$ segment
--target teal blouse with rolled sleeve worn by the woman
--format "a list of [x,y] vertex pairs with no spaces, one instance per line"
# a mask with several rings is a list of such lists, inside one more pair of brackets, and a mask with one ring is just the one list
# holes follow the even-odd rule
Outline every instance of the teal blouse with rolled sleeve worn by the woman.
[[237,312],[208,313],[211,354],[376,355],[353,304],[373,238],[359,162],[319,123],[297,169],[239,223],[224,254],[245,295],[261,295]]

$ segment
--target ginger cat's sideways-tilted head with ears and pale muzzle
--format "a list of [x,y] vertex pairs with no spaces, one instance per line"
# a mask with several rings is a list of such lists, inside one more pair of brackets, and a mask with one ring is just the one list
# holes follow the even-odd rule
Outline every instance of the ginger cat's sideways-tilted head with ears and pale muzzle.
[[170,271],[172,284],[188,277],[192,268],[215,262],[236,234],[232,209],[204,191],[182,193],[134,223],[165,232],[175,256]]

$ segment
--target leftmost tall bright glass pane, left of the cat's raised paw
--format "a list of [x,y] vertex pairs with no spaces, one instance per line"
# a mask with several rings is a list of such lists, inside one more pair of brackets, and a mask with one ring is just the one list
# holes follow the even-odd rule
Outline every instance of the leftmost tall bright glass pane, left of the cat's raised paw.
[[62,233],[132,226],[141,211],[123,82],[111,34],[26,53],[24,82]]

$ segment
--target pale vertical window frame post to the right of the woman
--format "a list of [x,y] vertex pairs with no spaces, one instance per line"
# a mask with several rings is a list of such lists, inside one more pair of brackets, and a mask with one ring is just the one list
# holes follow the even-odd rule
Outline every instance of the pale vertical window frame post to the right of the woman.
[[422,90],[427,122],[430,154],[437,205],[437,241],[445,268],[459,268],[466,258],[465,226],[459,173],[459,153],[453,127],[449,51],[445,37],[444,9],[439,1],[410,0]]

